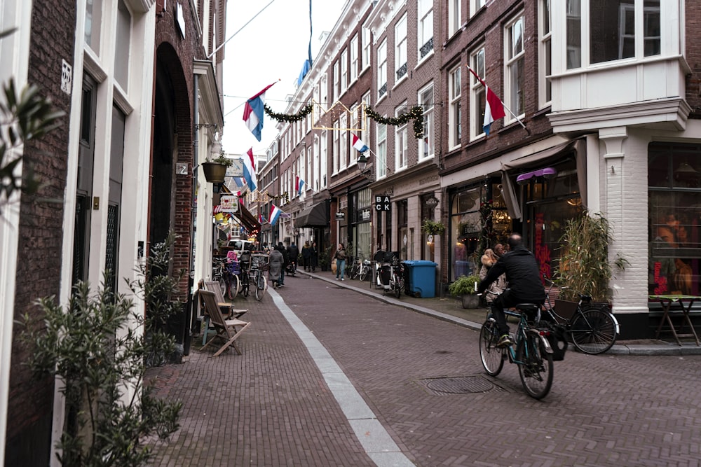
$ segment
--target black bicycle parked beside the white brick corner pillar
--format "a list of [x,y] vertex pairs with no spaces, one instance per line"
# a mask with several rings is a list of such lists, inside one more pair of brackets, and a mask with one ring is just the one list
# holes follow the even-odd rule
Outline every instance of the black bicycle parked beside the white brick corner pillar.
[[[608,305],[604,303],[594,304],[589,295],[578,293],[579,301],[571,318],[557,314],[554,306],[550,304],[550,292],[555,283],[543,276],[550,284],[545,291],[545,312],[550,319],[564,326],[564,333],[570,342],[584,354],[603,354],[615,344],[616,335],[619,333],[618,320],[613,313],[608,311]],[[566,287],[561,287],[564,289]]]

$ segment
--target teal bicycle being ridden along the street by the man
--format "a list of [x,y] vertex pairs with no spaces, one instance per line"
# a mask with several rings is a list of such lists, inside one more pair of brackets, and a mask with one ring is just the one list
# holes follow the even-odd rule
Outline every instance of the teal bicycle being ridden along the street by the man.
[[497,347],[500,333],[490,313],[479,330],[479,358],[489,376],[497,376],[507,359],[509,363],[515,363],[526,393],[532,398],[542,399],[550,392],[554,369],[553,350],[548,340],[550,330],[536,328],[540,322],[540,305],[519,303],[515,309],[515,312],[504,310],[507,316],[519,319],[514,345]]

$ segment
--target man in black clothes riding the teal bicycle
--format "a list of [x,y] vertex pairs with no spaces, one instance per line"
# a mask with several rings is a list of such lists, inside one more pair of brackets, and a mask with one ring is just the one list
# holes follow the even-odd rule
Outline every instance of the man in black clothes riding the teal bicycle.
[[477,293],[483,293],[489,284],[506,273],[508,288],[491,302],[491,314],[496,320],[501,335],[497,347],[508,347],[513,344],[509,337],[505,308],[524,302],[536,305],[543,305],[545,302],[545,288],[540,280],[540,268],[536,257],[526,249],[521,235],[517,233],[509,237],[508,243],[510,251],[494,263],[486,277],[477,286]]

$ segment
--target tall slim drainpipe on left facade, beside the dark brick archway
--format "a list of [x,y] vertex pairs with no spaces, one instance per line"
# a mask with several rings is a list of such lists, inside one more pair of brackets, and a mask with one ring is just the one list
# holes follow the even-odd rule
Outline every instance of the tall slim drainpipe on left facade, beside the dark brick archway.
[[[199,94],[199,81],[197,74],[193,74],[193,119],[194,119],[194,135],[192,139],[192,193],[190,196],[190,266],[187,274],[187,302],[185,305],[185,313],[183,320],[183,355],[190,354],[190,318],[193,314],[193,293],[195,288],[195,220],[197,218],[195,195],[197,193],[197,153],[200,146],[199,127],[200,127],[200,102],[197,98]],[[200,252],[201,254],[201,252]]]

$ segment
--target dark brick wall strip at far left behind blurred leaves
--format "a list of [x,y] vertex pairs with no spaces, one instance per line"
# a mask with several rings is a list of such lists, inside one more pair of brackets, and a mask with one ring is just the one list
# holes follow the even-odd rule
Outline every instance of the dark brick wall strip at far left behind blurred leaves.
[[[43,186],[34,196],[22,195],[18,265],[15,288],[15,320],[22,314],[36,316],[34,300],[58,295],[62,265],[63,197],[68,153],[70,96],[61,90],[62,60],[72,64],[76,8],[74,2],[46,0],[32,6],[32,38],[29,46],[28,81],[49,96],[57,109],[67,113],[60,129],[41,141],[25,145],[25,158],[34,162]],[[74,80],[81,79],[74,76]],[[25,167],[26,170],[26,167]],[[46,200],[55,200],[48,202]],[[10,394],[5,465],[46,465],[49,456],[53,408],[53,379],[34,379],[23,363],[28,350],[13,331]]]

